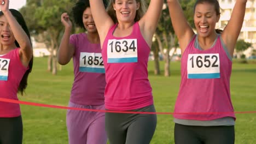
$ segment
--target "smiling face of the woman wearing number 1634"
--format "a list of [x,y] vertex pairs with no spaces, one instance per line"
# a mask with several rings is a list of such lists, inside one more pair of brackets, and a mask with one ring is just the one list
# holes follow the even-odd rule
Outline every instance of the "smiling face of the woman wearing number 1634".
[[115,0],[113,4],[119,22],[134,22],[139,6],[136,0]]

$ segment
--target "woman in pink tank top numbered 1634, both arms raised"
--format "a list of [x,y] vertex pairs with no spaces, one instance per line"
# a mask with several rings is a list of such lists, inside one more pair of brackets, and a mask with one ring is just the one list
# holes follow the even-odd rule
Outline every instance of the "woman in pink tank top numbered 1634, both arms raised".
[[[142,0],[111,0],[108,13],[102,0],[90,0],[90,4],[106,69],[106,109],[155,112],[147,65],[163,0],[150,1],[145,14]],[[149,143],[155,127],[156,115],[106,113],[111,144]]]

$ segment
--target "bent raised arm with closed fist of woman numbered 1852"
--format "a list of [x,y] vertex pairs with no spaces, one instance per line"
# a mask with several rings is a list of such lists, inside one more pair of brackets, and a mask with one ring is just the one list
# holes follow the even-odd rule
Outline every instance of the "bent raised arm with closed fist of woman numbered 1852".
[[74,55],[74,45],[69,43],[72,31],[72,22],[69,20],[67,13],[63,13],[61,15],[61,22],[65,26],[65,32],[61,39],[57,59],[61,65],[66,65]]

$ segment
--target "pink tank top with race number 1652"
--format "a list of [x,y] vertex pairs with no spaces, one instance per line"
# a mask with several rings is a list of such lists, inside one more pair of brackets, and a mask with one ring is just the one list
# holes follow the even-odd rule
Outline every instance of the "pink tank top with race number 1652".
[[182,56],[182,79],[174,112],[201,114],[179,114],[174,117],[197,121],[211,121],[223,117],[235,119],[230,99],[232,62],[226,55],[220,36],[216,44],[208,50],[196,49],[195,38]]

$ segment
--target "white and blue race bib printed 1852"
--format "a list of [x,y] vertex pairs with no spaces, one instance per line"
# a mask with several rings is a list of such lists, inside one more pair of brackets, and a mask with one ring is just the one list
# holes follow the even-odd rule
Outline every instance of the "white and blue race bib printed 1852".
[[81,52],[79,71],[89,73],[105,73],[101,53]]

